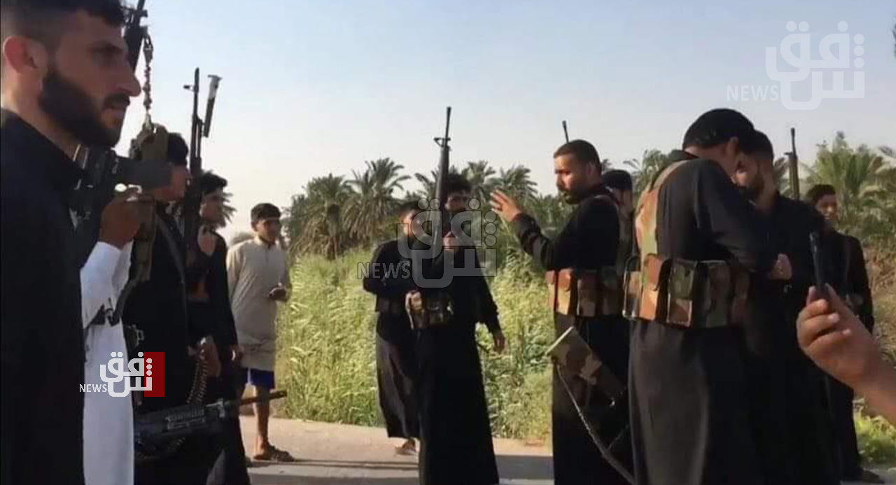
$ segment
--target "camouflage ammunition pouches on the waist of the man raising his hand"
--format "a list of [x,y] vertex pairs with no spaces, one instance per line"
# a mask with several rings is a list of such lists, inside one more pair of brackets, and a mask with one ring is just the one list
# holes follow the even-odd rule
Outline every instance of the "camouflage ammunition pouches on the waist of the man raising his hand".
[[622,293],[616,268],[564,268],[545,273],[548,305],[556,313],[582,317],[619,315]]

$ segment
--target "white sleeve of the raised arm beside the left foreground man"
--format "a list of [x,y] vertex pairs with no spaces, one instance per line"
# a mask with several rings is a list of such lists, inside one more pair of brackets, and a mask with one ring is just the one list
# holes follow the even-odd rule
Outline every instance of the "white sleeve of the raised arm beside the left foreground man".
[[81,268],[81,316],[86,328],[101,307],[112,308],[117,299],[112,278],[121,249],[98,242]]

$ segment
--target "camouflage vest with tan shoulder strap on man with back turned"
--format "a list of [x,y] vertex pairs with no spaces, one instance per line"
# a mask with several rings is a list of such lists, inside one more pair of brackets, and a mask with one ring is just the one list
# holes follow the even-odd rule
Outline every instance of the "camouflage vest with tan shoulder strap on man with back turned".
[[624,315],[685,327],[712,328],[742,323],[749,275],[726,261],[689,261],[659,255],[659,190],[687,160],[659,172],[638,200],[635,237],[640,264],[625,273]]

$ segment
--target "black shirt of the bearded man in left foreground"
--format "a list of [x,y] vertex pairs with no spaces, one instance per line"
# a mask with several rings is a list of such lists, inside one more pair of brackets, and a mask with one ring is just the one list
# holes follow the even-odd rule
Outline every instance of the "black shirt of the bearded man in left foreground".
[[0,482],[81,485],[84,339],[70,157],[3,110]]

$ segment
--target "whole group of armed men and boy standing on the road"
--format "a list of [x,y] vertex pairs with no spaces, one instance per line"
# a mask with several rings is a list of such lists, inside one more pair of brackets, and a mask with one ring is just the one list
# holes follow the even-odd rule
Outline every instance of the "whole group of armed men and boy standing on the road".
[[[226,180],[191,178],[184,138],[149,125],[130,156],[165,160],[168,183],[115,195],[79,251],[78,153],[115,146],[140,91],[124,17],[116,2],[87,0],[4,0],[2,13],[3,483],[238,485],[250,457],[293,460],[268,438],[274,317],[289,299],[280,212],[255,206],[255,237],[228,248],[215,232]],[[834,229],[831,186],[814,186],[809,204],[781,195],[768,137],[731,109],[686,127],[637,204],[630,176],[602,173],[591,143],[564,143],[553,160],[574,206],[556,237],[512,196],[490,202],[546,271],[556,484],[879,481],[859,463],[852,391],[816,367],[830,359],[801,349],[795,325],[813,316],[812,233],[829,290],[874,325],[862,249]],[[469,181],[442,183],[439,211],[473,207]],[[201,192],[198,214],[185,213],[187,186]],[[418,455],[422,484],[496,484],[475,327],[503,351],[500,308],[475,249],[447,234],[433,251],[438,241],[418,238],[419,212],[401,205],[401,230],[373,258],[412,271],[363,281],[376,297],[383,418],[404,440],[395,452]],[[202,229],[187,240],[196,216]],[[113,385],[110,356],[143,351],[164,352],[161,396],[139,385],[126,398],[84,392]],[[246,385],[259,397],[248,456],[233,413],[160,442],[134,429],[178,406],[232,403]]]

